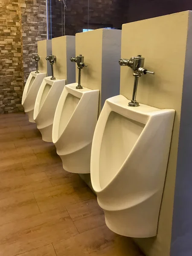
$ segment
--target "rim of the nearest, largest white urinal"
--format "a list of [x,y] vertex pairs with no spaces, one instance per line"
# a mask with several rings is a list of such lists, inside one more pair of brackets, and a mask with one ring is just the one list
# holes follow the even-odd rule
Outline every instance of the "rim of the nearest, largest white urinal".
[[[119,96],[119,95],[118,95],[118,96]],[[122,96],[122,95],[121,95],[121,96]],[[121,116],[124,116],[125,118],[131,119],[130,117],[125,116],[125,115],[123,115],[122,113],[119,113],[118,111],[114,111],[114,110],[113,110],[113,109],[115,108],[114,105],[117,105],[117,104],[116,104],[116,102],[113,102],[112,99],[114,99],[114,98],[116,98],[116,97],[117,97],[117,96],[114,96],[114,97],[109,98],[109,99],[107,99],[107,100],[105,101],[104,107],[105,107],[105,108],[108,107],[108,110],[106,109],[106,111],[108,111],[108,116],[107,116],[107,118],[105,119],[106,122],[105,122],[105,126],[102,128],[102,132],[100,131],[100,134],[102,134],[102,137],[101,137],[101,139],[100,139],[99,142],[98,142],[99,144],[96,142],[96,145],[95,145],[96,148],[99,148],[99,152],[97,153],[97,160],[96,160],[96,162],[100,162],[100,153],[101,153],[101,145],[102,145],[103,135],[104,135],[104,131],[105,131],[106,124],[107,124],[108,117],[109,117],[110,113],[113,111],[113,112],[115,112],[115,113],[118,113],[118,114],[121,115]],[[122,97],[124,97],[125,99],[127,99],[125,96],[122,96]],[[127,99],[127,101],[129,101],[129,100]],[[118,105],[118,106],[119,106],[119,105]],[[147,106],[147,105],[145,105],[145,106]],[[103,107],[102,111],[104,110],[104,107]],[[123,105],[122,105],[122,106],[119,106],[119,107],[120,107],[120,108],[124,108]],[[150,107],[150,106],[149,106],[149,107]],[[139,107],[138,107],[138,108],[139,108]],[[151,108],[154,108],[154,107],[151,107]],[[155,109],[155,108],[154,108],[154,109]],[[143,116],[146,116],[146,117],[147,117],[147,122],[144,123],[144,124],[145,124],[145,127],[143,128],[143,131],[141,132],[140,136],[138,137],[136,143],[134,144],[133,148],[132,148],[131,151],[129,152],[128,156],[125,158],[124,162],[122,163],[122,166],[119,168],[118,172],[116,172],[116,175],[114,175],[113,178],[108,182],[108,184],[107,184],[105,187],[103,187],[103,188],[101,189],[100,182],[99,182],[99,177],[97,178],[97,181],[96,181],[97,184],[95,185],[95,184],[94,184],[95,181],[93,181],[93,178],[92,178],[92,175],[91,175],[91,183],[92,183],[92,186],[93,186],[94,191],[95,191],[97,194],[99,194],[99,193],[103,192],[105,189],[107,189],[108,186],[110,186],[111,183],[116,179],[116,177],[118,177],[118,175],[120,174],[120,171],[124,168],[126,162],[128,161],[128,158],[131,158],[133,152],[135,151],[135,148],[136,148],[137,145],[138,145],[138,141],[144,136],[143,134],[145,133],[146,129],[148,128],[148,125],[150,124],[151,120],[152,120],[155,116],[157,116],[158,114],[163,114],[163,113],[168,112],[168,111],[174,111],[174,112],[175,112],[175,110],[173,110],[173,109],[158,109],[158,108],[156,108],[156,109],[157,109],[157,111],[149,111],[148,113],[141,113]],[[132,109],[131,107],[129,107],[129,108],[125,108],[125,110],[126,110],[126,111],[134,111],[135,108]],[[134,111],[134,112],[135,112],[135,111]],[[156,112],[156,113],[154,113],[154,112]],[[102,114],[102,113],[101,113],[101,114]],[[100,114],[100,116],[101,116],[101,114]],[[99,117],[100,117],[100,116],[99,116]],[[100,120],[101,120],[101,119],[100,119]],[[131,120],[133,120],[133,119],[131,119]],[[134,120],[135,120],[135,119],[134,119]],[[135,121],[137,121],[137,120],[135,120]],[[95,140],[94,137],[95,137],[95,134],[97,134],[97,130],[99,129],[98,126],[100,126],[100,122],[103,122],[103,120],[102,120],[102,121],[99,121],[99,119],[98,119],[98,122],[97,122],[97,125],[96,125],[96,129],[95,129],[95,133],[94,133],[94,136],[93,136],[93,140]],[[141,123],[142,123],[142,122],[141,122]],[[98,136],[98,135],[96,135],[96,136]],[[96,140],[96,141],[98,141],[98,140]],[[94,141],[93,141],[93,145],[94,145]],[[93,145],[92,145],[92,147],[93,147]],[[96,153],[94,153],[94,154],[96,154]],[[92,154],[91,154],[91,157],[92,157]],[[93,156],[93,157],[95,157],[95,156]],[[91,160],[91,161],[92,161],[92,160]],[[97,175],[99,175],[99,170],[98,170],[98,171],[95,171],[95,167],[93,167],[93,168],[94,168],[94,172],[98,172]],[[99,166],[98,166],[98,168],[99,168]],[[90,171],[90,174],[91,174],[92,172],[93,172],[93,171]],[[96,189],[96,188],[97,188],[97,189]],[[98,188],[99,188],[99,189],[98,189]]]

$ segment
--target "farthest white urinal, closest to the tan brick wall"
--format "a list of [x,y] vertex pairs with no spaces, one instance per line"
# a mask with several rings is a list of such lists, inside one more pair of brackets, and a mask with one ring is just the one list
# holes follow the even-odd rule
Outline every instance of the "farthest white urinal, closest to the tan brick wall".
[[35,71],[32,71],[26,81],[23,90],[22,105],[25,113],[29,117],[29,122],[35,122],[33,119],[35,100],[39,87],[41,86],[41,83],[45,77],[46,73],[35,73]]

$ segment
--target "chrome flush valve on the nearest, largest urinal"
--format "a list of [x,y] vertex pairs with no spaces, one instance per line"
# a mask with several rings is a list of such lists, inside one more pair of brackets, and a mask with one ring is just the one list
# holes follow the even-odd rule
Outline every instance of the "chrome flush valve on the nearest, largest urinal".
[[133,89],[133,96],[131,99],[131,102],[129,102],[130,107],[138,107],[139,102],[136,101],[136,95],[137,95],[137,85],[139,77],[146,74],[154,75],[154,72],[148,71],[144,66],[145,58],[143,58],[141,55],[137,55],[137,57],[131,57],[130,59],[123,59],[121,58],[119,60],[120,66],[128,66],[131,67],[133,70],[133,76],[135,77],[134,80],[134,89]]

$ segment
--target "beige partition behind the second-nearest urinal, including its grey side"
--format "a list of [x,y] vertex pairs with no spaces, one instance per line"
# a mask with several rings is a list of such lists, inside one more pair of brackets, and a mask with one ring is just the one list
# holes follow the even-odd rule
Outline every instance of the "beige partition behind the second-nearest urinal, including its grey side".
[[87,64],[81,71],[81,85],[100,90],[99,110],[105,99],[119,94],[120,52],[121,30],[96,29],[76,34],[76,55],[82,54]]

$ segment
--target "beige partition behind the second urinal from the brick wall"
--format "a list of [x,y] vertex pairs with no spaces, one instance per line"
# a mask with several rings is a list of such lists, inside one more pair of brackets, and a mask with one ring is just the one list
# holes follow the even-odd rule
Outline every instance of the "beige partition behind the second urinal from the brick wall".
[[75,36],[65,35],[52,39],[52,54],[56,56],[54,64],[54,76],[58,79],[66,79],[67,84],[75,83],[76,70],[70,57],[75,57]]

